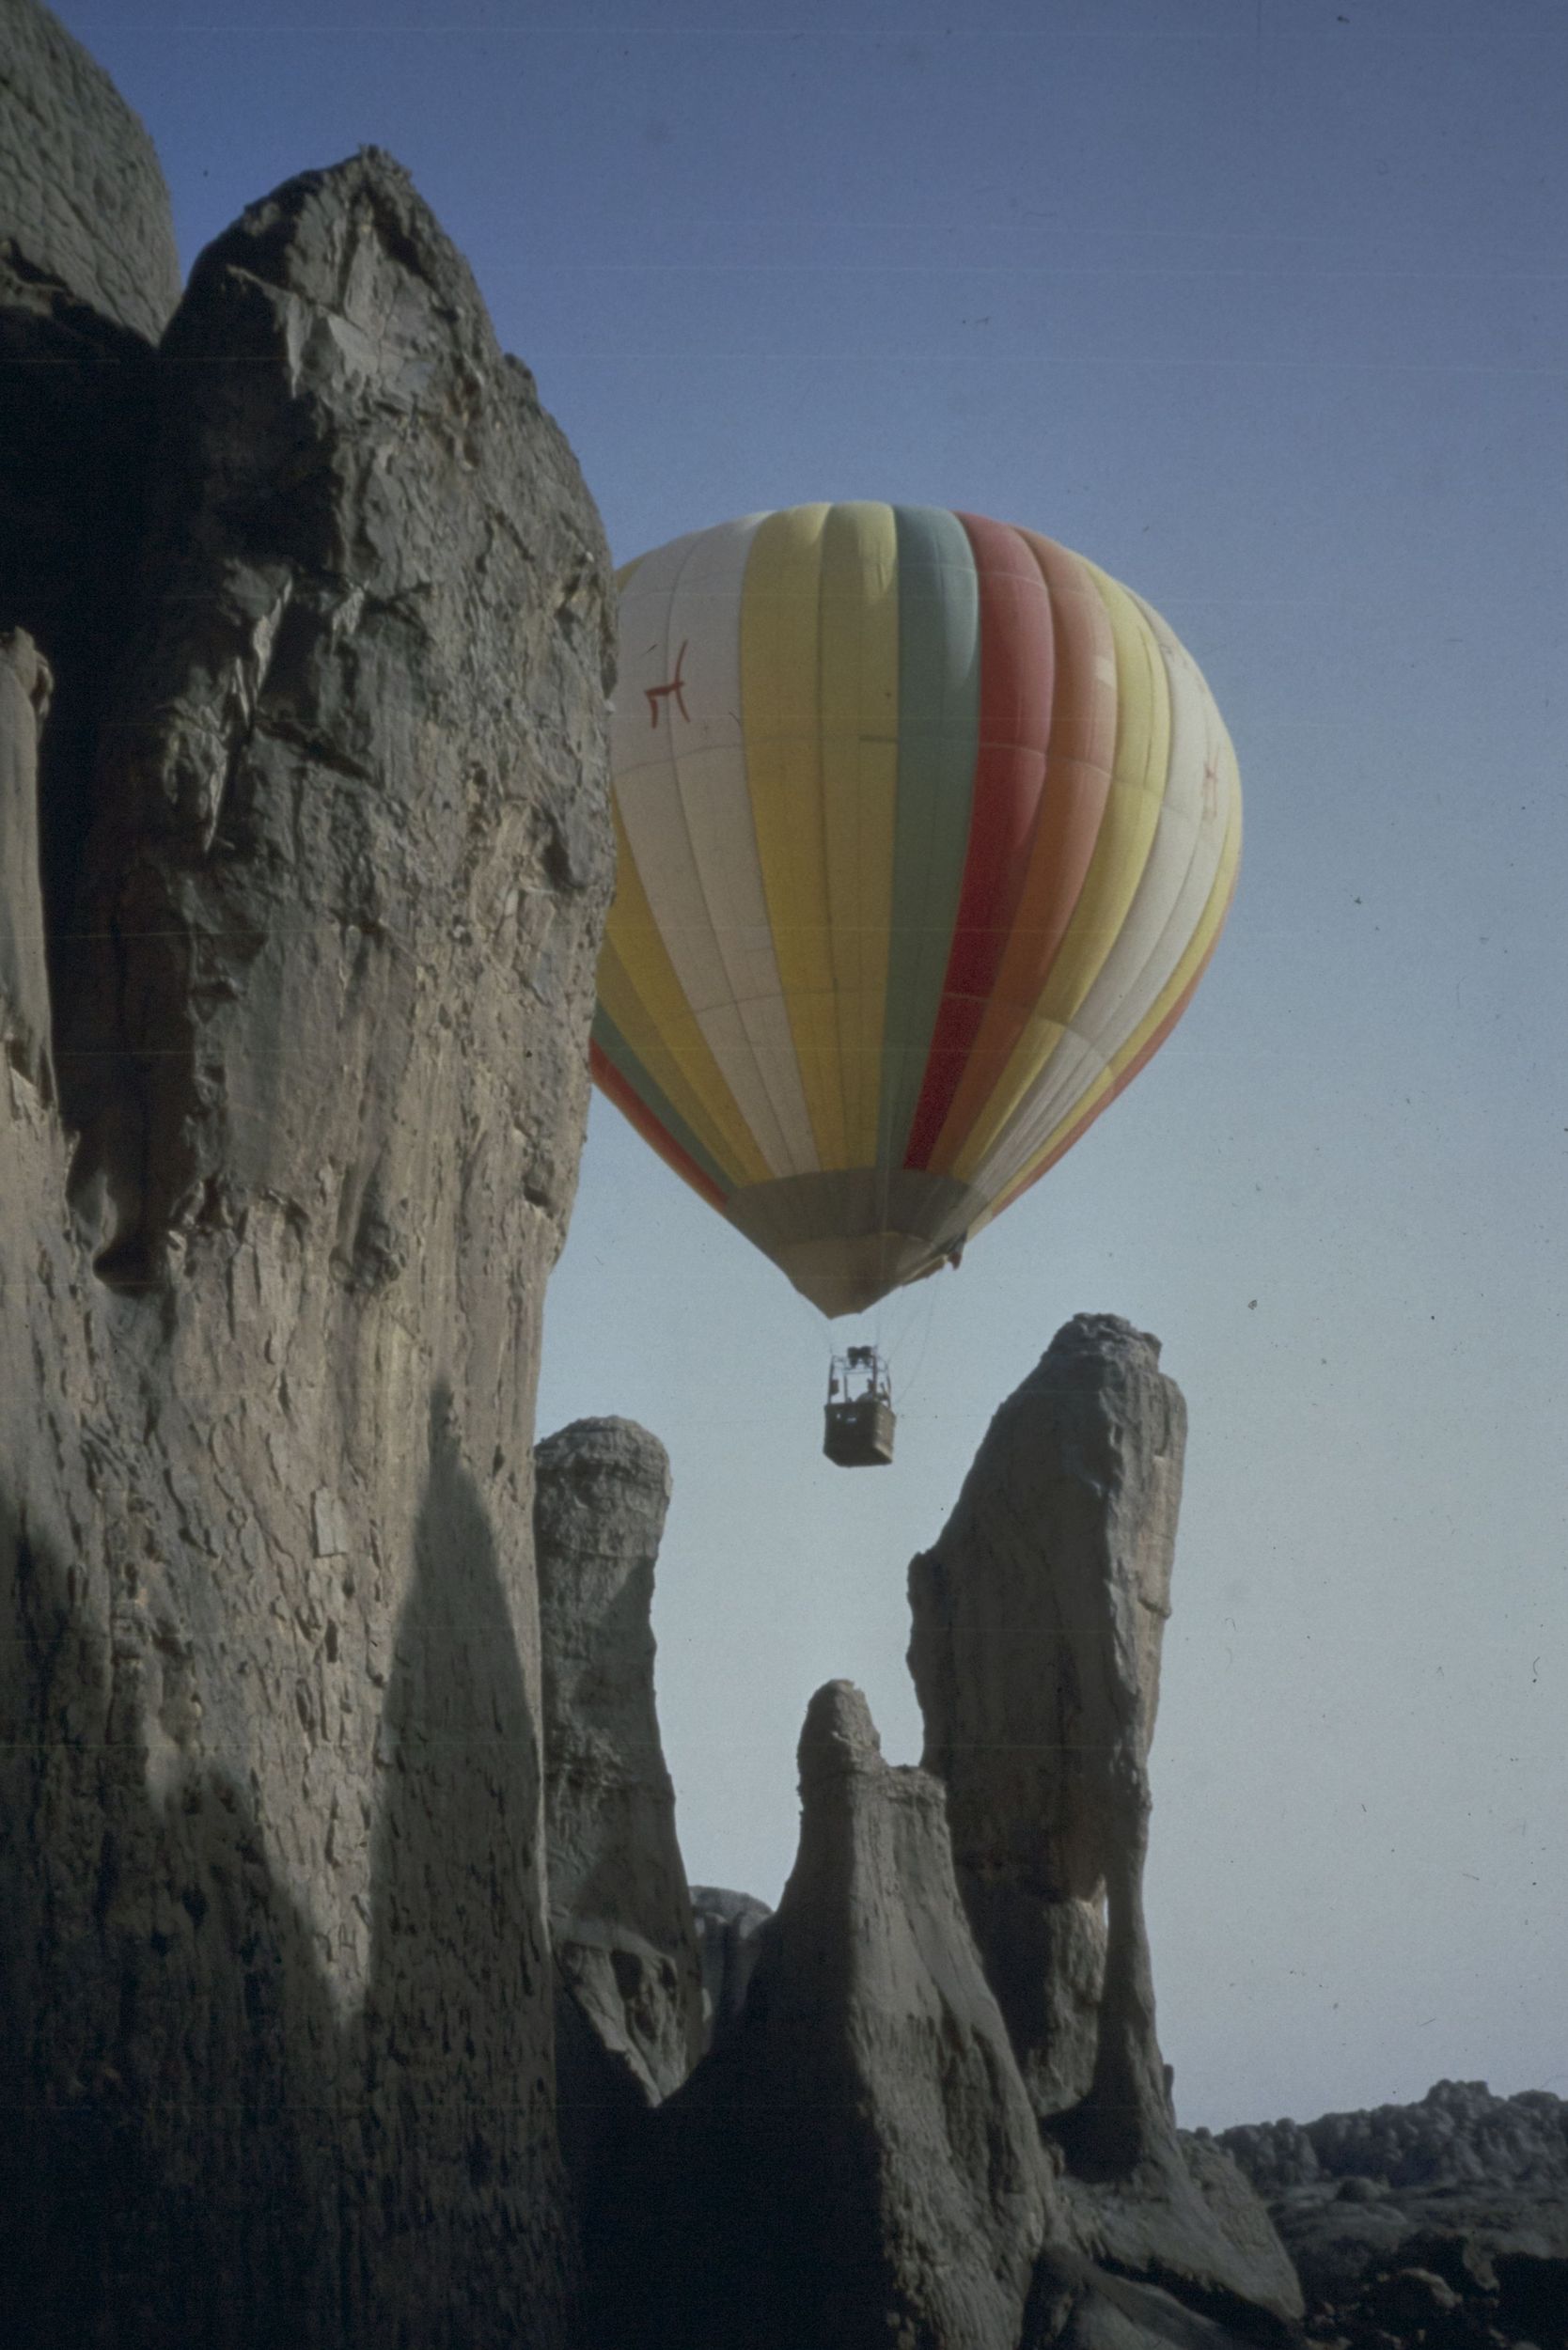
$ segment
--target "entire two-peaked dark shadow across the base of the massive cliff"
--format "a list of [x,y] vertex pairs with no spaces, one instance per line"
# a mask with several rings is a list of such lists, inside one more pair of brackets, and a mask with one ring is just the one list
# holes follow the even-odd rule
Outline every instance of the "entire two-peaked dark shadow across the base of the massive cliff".
[[136,1659],[82,1629],[80,1570],[5,1492],[0,1622],[7,2338],[559,2341],[527,2040],[538,1765],[449,1394],[378,1739],[362,2016],[334,2005],[244,1774],[150,1772]]

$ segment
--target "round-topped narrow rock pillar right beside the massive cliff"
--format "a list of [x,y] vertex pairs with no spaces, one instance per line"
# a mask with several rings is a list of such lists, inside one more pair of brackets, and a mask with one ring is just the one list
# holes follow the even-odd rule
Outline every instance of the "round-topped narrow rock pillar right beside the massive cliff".
[[[654,1711],[665,1448],[576,1419],[534,1452],[550,1939],[564,1995],[656,2106],[703,2052],[703,1979]],[[559,2099],[595,2096],[562,2073]]]

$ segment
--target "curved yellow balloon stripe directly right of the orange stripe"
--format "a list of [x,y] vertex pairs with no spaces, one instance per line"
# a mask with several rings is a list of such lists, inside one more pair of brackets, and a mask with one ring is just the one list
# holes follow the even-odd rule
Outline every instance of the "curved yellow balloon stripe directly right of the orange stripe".
[[1077,1008],[1093,987],[1143,879],[1171,768],[1171,682],[1135,599],[1114,578],[1079,557],[1095,583],[1112,630],[1117,663],[1117,754],[1105,815],[1079,902],[997,1088],[954,1161],[959,1182],[973,1182],[997,1137],[1041,1076]]

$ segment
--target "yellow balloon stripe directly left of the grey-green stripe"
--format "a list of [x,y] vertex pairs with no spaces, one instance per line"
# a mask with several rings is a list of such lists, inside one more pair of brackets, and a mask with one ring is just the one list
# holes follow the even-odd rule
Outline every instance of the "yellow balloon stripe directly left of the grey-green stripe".
[[844,1166],[875,1166],[898,801],[898,526],[835,505],[820,580],[823,837]]

